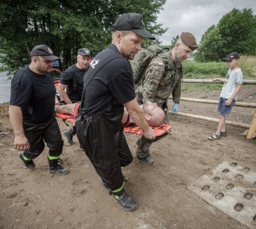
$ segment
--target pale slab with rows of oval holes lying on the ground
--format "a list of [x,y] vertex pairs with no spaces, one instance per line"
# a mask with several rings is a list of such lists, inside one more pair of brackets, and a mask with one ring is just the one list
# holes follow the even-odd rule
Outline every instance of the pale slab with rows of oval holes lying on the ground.
[[256,170],[242,162],[222,162],[188,189],[248,228],[256,228]]

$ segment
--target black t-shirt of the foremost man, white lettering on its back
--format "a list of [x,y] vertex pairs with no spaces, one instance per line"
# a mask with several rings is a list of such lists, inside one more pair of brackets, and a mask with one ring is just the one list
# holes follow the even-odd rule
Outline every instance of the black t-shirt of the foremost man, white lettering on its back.
[[[110,55],[116,55],[117,59],[99,69],[85,89],[85,99],[81,106],[85,115],[96,115],[104,111],[110,103],[123,106],[123,103],[136,97],[131,64],[126,58],[119,58],[121,54],[114,44],[110,44],[108,48],[95,56],[87,73],[91,74],[96,71],[97,63]],[[92,71],[91,68],[93,68]],[[89,74],[85,74],[85,79],[88,76]]]

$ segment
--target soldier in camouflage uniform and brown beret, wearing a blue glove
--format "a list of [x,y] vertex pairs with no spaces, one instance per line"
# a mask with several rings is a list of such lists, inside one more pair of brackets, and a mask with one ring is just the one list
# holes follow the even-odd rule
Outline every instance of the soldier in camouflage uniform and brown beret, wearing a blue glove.
[[[181,100],[182,61],[189,58],[196,48],[198,48],[198,44],[194,35],[182,32],[173,49],[153,58],[144,73],[144,77],[141,77],[139,82],[135,84],[139,102],[157,103],[165,111],[167,124],[169,124],[168,97],[172,94],[174,102],[172,112],[176,114]],[[137,141],[137,160],[147,165],[154,162],[149,157],[151,154],[149,148],[152,142],[144,137],[140,137]]]

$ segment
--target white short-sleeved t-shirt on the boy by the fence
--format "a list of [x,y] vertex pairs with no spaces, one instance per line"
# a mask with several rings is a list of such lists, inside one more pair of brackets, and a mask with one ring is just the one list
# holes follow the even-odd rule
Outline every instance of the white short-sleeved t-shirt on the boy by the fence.
[[[227,79],[227,81],[224,82],[220,97],[223,97],[224,99],[229,99],[232,94],[234,94],[236,84],[243,83],[243,73],[240,68],[234,70],[229,69],[225,78]],[[234,97],[234,100],[238,100],[238,95]]]

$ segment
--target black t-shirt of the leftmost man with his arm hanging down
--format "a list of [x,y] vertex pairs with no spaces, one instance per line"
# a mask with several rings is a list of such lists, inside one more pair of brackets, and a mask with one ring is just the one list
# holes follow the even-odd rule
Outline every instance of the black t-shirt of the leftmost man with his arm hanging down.
[[55,94],[50,74],[39,75],[26,66],[12,78],[10,105],[22,109],[24,120],[44,122],[54,116]]

